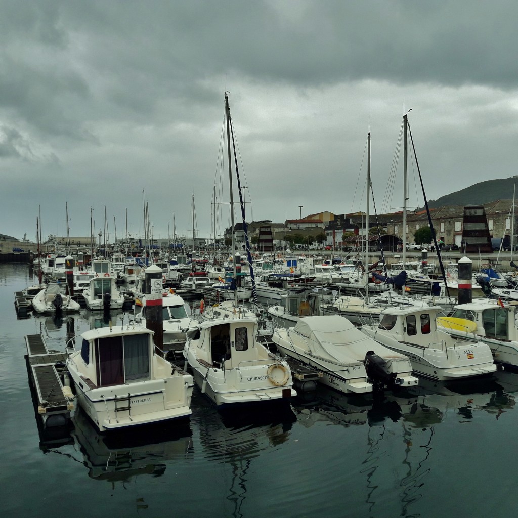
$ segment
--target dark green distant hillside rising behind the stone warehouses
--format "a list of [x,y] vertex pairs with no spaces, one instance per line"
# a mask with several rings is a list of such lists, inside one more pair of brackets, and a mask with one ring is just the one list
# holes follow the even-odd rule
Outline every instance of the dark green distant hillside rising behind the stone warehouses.
[[[518,179],[517,179],[518,180]],[[517,187],[518,187],[518,182]],[[430,208],[436,209],[445,205],[482,205],[497,199],[513,199],[514,179],[497,178],[479,182],[462,191],[446,194],[438,199],[428,201]],[[516,192],[518,199],[518,192]]]

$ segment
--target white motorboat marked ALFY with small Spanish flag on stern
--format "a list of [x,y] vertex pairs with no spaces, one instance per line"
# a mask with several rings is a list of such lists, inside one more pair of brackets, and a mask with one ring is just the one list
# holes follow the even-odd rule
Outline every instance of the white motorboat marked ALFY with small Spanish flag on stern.
[[387,308],[379,324],[363,325],[361,330],[389,349],[406,354],[421,376],[451,381],[495,372],[487,344],[457,340],[437,327],[441,312],[440,306]]

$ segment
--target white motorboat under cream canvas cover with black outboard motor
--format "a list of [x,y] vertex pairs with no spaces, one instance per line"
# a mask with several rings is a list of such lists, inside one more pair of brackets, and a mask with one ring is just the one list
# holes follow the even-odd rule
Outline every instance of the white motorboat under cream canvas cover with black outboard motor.
[[276,329],[272,341],[282,354],[322,372],[321,383],[345,394],[418,384],[405,354],[380,347],[342,316],[305,316],[294,327]]

